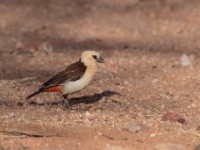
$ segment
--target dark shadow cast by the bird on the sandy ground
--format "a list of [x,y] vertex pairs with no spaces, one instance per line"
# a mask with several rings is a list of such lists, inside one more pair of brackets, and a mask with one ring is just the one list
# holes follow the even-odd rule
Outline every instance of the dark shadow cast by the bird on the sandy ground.
[[[103,91],[102,93],[99,94],[93,94],[90,96],[82,96],[82,97],[75,97],[70,99],[70,106],[76,105],[76,104],[91,104],[98,102],[101,100],[103,97],[110,97],[112,95],[121,95],[120,93],[114,92],[114,91]],[[60,103],[63,103],[64,100],[62,101],[57,101],[57,102],[47,102],[47,103],[37,103],[34,101],[31,101],[30,104],[32,105],[59,105]]]

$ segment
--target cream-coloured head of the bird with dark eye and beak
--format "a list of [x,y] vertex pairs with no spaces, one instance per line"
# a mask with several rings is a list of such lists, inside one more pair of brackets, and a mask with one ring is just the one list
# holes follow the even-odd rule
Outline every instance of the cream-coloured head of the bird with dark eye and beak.
[[84,51],[81,54],[81,61],[86,65],[94,65],[96,63],[104,63],[103,57],[95,51]]

